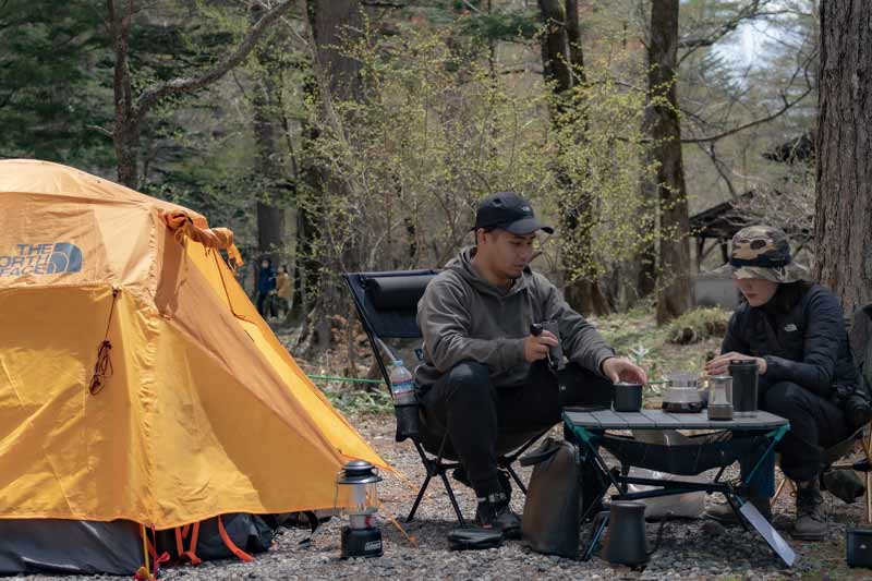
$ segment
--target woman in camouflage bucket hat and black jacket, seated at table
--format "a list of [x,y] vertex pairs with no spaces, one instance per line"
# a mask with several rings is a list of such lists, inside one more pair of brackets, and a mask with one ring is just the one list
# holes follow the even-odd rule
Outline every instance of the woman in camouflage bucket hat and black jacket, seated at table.
[[[751,226],[732,238],[730,271],[743,302],[732,314],[722,354],[705,365],[725,375],[730,361],[753,360],[760,377],[760,409],[790,421],[778,446],[784,473],[797,483],[792,534],[822,540],[826,534],[819,476],[822,452],[845,439],[851,425],[839,396],[857,390],[855,367],[838,300],[791,261],[787,235],[778,228]],[[742,467],[742,471],[751,467]],[[774,461],[752,484],[751,500],[767,517],[774,494]],[[728,520],[729,507],[708,516]],[[735,519],[735,517],[734,517]]]

